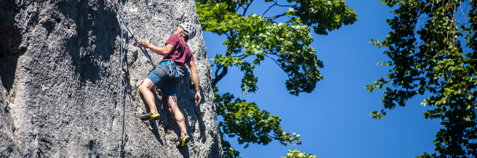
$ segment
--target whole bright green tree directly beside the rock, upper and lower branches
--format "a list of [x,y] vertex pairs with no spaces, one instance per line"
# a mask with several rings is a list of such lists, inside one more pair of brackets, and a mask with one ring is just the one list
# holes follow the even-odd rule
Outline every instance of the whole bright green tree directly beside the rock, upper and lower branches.
[[[270,7],[261,15],[246,16],[253,0],[196,0],[202,29],[227,36],[225,55],[217,54],[211,59],[212,66],[217,68],[213,86],[217,115],[224,118],[218,125],[226,158],[239,157],[239,152],[223,139],[225,135],[238,136],[239,144],[247,143],[245,148],[249,143],[267,145],[274,139],[285,146],[301,144],[300,135],[281,128],[277,115],[260,111],[255,103],[235,99],[230,93],[218,93],[215,85],[227,75],[228,68],[236,66],[244,72],[242,93],[255,92],[258,78],[253,70],[260,61],[270,58],[288,74],[285,84],[290,94],[310,93],[316,82],[323,79],[319,70],[323,64],[310,46],[313,41],[311,27],[316,33],[326,35],[342,25],[353,24],[357,18],[355,10],[349,9],[344,0],[265,1],[271,2]],[[290,8],[283,14],[263,17],[272,7],[278,6]],[[290,20],[286,23],[274,21],[282,16],[288,16]]]

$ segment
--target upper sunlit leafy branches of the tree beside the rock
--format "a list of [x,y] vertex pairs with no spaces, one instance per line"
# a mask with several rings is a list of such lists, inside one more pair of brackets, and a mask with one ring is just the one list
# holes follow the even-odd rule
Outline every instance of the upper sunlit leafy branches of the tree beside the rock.
[[[212,60],[218,68],[214,84],[227,74],[229,66],[237,66],[245,73],[242,92],[255,92],[258,88],[253,69],[270,57],[289,75],[286,85],[290,94],[310,93],[323,78],[318,69],[323,64],[310,46],[313,38],[309,26],[316,33],[327,34],[327,30],[338,29],[342,24],[353,24],[357,18],[355,11],[344,5],[344,0],[289,0],[296,4],[281,15],[243,16],[252,1],[196,1],[202,29],[228,37],[224,42],[228,47],[226,54],[216,55]],[[279,5],[278,1],[274,2],[270,8]],[[240,7],[244,9],[242,15],[237,12]],[[281,16],[291,18],[287,23],[273,21]],[[253,56],[251,62],[246,60],[249,56]]]

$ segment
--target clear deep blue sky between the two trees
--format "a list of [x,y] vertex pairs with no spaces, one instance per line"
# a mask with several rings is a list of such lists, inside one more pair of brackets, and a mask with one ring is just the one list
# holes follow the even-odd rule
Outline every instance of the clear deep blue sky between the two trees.
[[[281,1],[279,4],[286,2]],[[230,92],[277,114],[282,119],[282,128],[300,134],[303,140],[299,146],[285,147],[275,140],[267,146],[250,144],[244,149],[245,144],[239,145],[237,138],[226,138],[242,158],[280,158],[295,148],[318,158],[413,158],[433,152],[432,141],[442,126],[440,120],[424,118],[422,112],[434,108],[419,106],[425,97],[416,96],[406,107],[387,110],[387,116],[381,120],[369,116],[371,111],[382,109],[379,101],[383,94],[382,90],[370,93],[364,86],[386,76],[390,69],[376,66],[377,62],[388,59],[383,54],[385,49],[369,41],[382,40],[391,31],[384,19],[394,17],[392,9],[379,0],[347,0],[346,4],[357,10],[358,20],[354,25],[343,26],[327,36],[313,33],[315,41],[311,45],[324,63],[321,69],[324,80],[317,83],[312,93],[290,95],[285,88],[288,79],[285,72],[270,59],[255,69],[259,79],[256,93],[241,94],[243,73],[235,67],[219,81],[220,92]],[[270,5],[256,0],[248,14],[260,15]],[[272,8],[265,16],[286,10],[286,7]],[[206,31],[204,38],[209,58],[225,54],[226,47],[222,44],[225,36]]]

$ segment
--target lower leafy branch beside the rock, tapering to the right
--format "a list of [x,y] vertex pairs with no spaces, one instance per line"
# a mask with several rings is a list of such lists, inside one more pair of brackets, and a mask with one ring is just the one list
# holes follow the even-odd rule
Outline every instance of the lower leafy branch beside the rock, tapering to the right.
[[[217,115],[224,118],[218,124],[223,134],[233,138],[239,136],[239,144],[257,143],[267,145],[272,139],[280,140],[281,144],[301,144],[300,135],[290,134],[281,129],[280,118],[270,115],[267,110],[260,111],[255,103],[243,99],[235,99],[233,94],[218,95],[214,88],[217,101]],[[273,133],[273,136],[269,133]],[[247,148],[248,145],[245,147]]]

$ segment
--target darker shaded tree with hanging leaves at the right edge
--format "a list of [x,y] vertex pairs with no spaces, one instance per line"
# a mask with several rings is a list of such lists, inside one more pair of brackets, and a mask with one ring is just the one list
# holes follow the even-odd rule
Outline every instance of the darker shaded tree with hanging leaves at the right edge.
[[[389,74],[366,86],[384,90],[383,109],[370,115],[381,119],[385,109],[405,106],[415,95],[428,96],[421,105],[435,106],[426,119],[441,119],[433,154],[416,158],[475,158],[476,135],[476,0],[381,0],[396,6],[393,31],[382,42],[373,40],[391,61]],[[460,19],[461,21],[459,21]],[[467,41],[464,52],[461,40]]]

